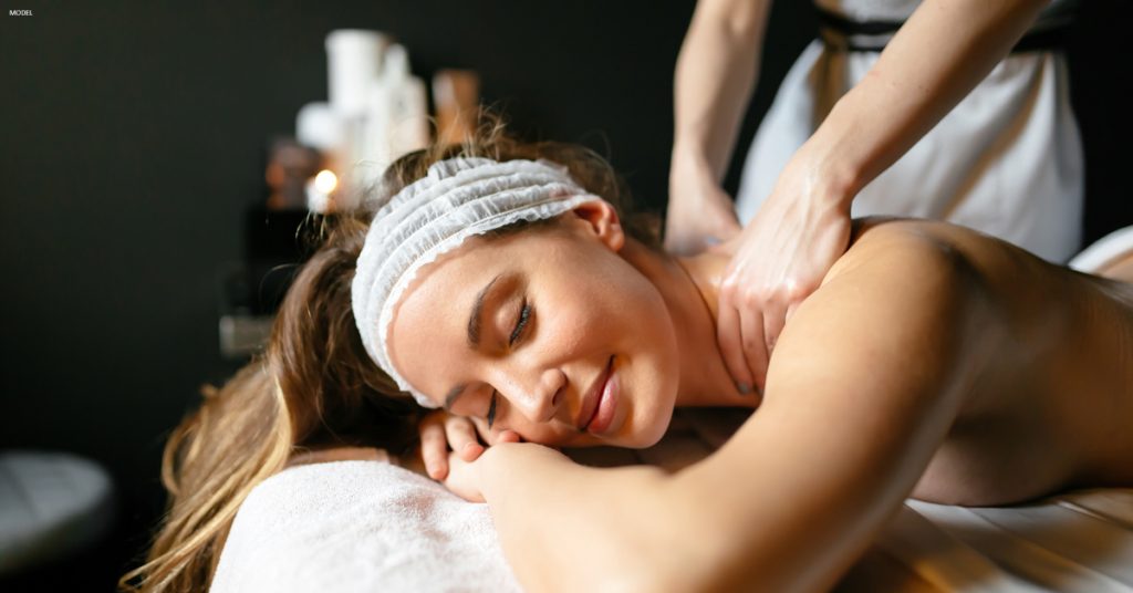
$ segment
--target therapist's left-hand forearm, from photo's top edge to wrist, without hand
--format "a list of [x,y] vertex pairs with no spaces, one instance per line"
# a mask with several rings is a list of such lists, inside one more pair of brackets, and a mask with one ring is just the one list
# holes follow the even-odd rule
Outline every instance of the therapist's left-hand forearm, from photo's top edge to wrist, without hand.
[[758,78],[770,0],[701,0],[676,59],[674,156],[724,176]]

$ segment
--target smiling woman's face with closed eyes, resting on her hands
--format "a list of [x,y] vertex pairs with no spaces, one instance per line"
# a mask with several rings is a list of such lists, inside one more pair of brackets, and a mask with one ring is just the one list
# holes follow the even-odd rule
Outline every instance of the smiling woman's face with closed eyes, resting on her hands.
[[[607,204],[472,238],[401,299],[390,353],[457,415],[551,446],[648,447],[668,426],[678,350],[665,302],[619,255]],[[483,426],[483,424],[482,424]]]

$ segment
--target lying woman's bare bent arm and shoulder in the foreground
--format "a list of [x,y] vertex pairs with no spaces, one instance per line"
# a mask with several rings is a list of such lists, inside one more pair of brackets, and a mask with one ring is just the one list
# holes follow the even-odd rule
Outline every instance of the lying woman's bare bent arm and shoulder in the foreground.
[[829,586],[911,491],[979,371],[980,282],[955,252],[874,231],[798,312],[761,408],[674,475],[537,446],[482,466],[533,591]]

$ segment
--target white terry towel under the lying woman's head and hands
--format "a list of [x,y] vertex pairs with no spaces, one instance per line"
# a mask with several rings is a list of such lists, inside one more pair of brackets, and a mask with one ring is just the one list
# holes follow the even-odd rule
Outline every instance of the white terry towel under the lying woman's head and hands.
[[211,591],[519,591],[487,505],[382,461],[286,469],[240,507]]

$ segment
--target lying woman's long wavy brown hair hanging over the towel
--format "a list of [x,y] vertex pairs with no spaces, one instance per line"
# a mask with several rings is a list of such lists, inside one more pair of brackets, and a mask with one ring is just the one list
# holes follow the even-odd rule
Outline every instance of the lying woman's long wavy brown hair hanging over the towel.
[[[659,248],[656,219],[630,211],[624,183],[602,156],[578,145],[520,142],[499,117],[485,112],[482,120],[461,144],[434,145],[395,161],[368,190],[367,202],[384,203],[444,159],[547,159],[611,202],[631,237]],[[168,511],[145,564],[119,579],[120,590],[207,590],[237,509],[292,456],[339,446],[376,447],[395,456],[416,449],[425,410],[369,359],[350,308],[368,215],[318,221],[321,246],[295,277],[264,353],[220,389],[205,388],[201,408],[173,431],[161,471]]]

